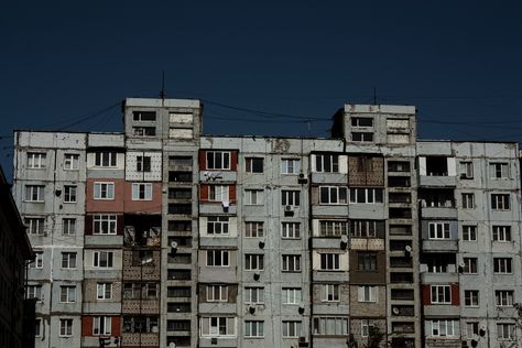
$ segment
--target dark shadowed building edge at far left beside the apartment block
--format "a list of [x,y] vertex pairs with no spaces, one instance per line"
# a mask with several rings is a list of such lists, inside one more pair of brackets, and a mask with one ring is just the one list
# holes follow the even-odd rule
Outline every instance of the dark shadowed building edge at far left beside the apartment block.
[[34,252],[10,189],[0,167],[0,347],[34,347],[34,301],[24,300],[25,263]]

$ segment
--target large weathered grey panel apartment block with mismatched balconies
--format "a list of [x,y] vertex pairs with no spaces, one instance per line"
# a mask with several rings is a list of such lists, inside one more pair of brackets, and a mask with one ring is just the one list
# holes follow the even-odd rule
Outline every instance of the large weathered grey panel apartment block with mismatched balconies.
[[15,134],[36,347],[518,344],[516,144],[418,141],[404,106],[346,105],[329,139],[203,135],[198,100],[123,112]]

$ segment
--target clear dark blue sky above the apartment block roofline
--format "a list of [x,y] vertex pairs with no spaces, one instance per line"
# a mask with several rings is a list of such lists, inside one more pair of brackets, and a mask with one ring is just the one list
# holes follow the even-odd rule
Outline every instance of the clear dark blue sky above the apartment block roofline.
[[[344,102],[377,88],[378,104],[417,107],[423,139],[521,141],[521,13],[519,1],[3,1],[0,137],[120,131],[119,107],[97,111],[156,97],[165,70],[167,97],[205,100],[207,134],[327,137]],[[11,144],[0,139],[8,173]]]

